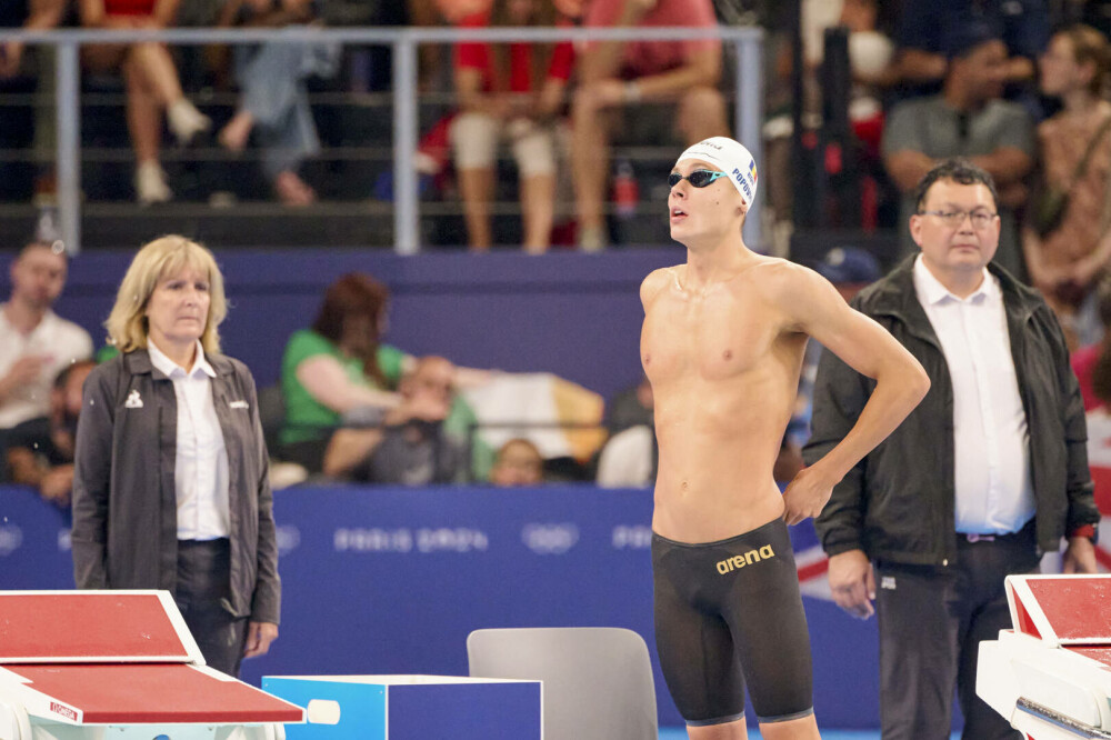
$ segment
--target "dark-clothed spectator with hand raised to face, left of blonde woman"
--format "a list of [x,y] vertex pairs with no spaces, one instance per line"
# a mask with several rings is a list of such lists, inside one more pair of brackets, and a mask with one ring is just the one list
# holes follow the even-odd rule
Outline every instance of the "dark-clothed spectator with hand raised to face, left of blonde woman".
[[38,489],[47,501],[68,507],[73,489],[73,451],[81,413],[81,387],[97,363],[79,360],[54,379],[50,416],[31,419],[8,434],[8,477]]

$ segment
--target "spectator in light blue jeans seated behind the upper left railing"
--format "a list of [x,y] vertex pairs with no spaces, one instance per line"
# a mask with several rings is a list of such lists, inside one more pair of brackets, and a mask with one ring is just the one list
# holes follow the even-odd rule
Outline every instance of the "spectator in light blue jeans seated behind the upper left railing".
[[[228,0],[220,26],[279,28],[314,20],[312,0]],[[239,44],[233,50],[240,98],[236,113],[220,131],[220,143],[241,152],[251,131],[262,148],[262,169],[278,200],[308,206],[316,191],[298,169],[320,152],[306,80],[331,77],[339,67],[340,47],[333,43]]]

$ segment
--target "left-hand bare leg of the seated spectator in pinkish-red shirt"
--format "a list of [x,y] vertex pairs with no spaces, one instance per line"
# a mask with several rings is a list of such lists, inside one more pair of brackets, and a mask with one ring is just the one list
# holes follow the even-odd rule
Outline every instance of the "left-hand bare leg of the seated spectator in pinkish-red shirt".
[[579,244],[587,251],[605,246],[605,183],[610,172],[610,136],[617,111],[602,106],[590,87],[574,93],[571,106],[571,174],[579,220]]

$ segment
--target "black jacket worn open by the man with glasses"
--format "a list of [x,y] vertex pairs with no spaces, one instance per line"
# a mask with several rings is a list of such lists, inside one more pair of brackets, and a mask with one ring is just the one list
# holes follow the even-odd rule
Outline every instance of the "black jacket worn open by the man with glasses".
[[[814,521],[830,556],[863,550],[869,558],[948,566],[954,524],[953,386],[933,327],[918,300],[914,258],[862,290],[852,306],[910,350],[932,382],[902,424],[833,489]],[[1084,407],[1057,318],[1032,290],[994,264],[1003,292],[1011,356],[1030,432],[1038,547],[1099,522],[1088,470]],[[803,450],[812,463],[852,428],[875,381],[823,351],[814,383],[813,432]]]

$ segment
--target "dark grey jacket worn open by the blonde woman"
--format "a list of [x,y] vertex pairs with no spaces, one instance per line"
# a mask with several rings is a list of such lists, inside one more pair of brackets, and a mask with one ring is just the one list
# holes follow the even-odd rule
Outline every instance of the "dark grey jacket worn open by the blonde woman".
[[[231,603],[224,608],[277,624],[278,544],[254,379],[239,360],[206,357],[216,371],[212,400],[228,450]],[[117,356],[86,380],[73,470],[78,588],[173,593],[177,433],[173,381],[151,364],[146,350]]]

